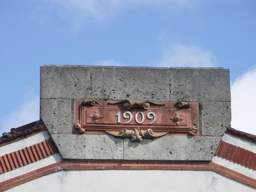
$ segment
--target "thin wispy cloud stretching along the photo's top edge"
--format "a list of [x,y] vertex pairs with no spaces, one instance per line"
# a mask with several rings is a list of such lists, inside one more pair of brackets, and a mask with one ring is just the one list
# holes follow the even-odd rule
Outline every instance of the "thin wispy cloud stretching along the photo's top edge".
[[144,8],[159,9],[168,14],[180,14],[198,5],[201,0],[45,0],[31,12],[31,19],[39,23],[59,17],[71,23],[73,29],[81,30],[87,22],[102,23],[127,10]]

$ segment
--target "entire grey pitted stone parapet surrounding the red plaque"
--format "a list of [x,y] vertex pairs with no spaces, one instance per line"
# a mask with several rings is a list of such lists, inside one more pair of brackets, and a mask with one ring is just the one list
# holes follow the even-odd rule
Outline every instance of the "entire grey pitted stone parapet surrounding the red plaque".
[[[229,71],[223,68],[44,66],[40,97],[40,118],[66,159],[211,160],[231,119]],[[73,99],[86,98],[197,101],[202,136],[138,143],[72,134]]]

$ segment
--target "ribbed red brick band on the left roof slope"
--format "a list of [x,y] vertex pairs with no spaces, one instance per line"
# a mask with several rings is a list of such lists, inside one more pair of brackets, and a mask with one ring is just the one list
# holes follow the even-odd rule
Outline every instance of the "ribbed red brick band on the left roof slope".
[[48,139],[18,151],[5,154],[0,156],[0,174],[52,156],[55,153],[57,153],[57,149],[52,140]]

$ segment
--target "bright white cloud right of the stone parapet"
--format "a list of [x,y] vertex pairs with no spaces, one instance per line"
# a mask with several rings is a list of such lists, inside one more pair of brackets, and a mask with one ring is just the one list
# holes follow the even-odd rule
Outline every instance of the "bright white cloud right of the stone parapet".
[[256,66],[231,84],[231,127],[256,135]]

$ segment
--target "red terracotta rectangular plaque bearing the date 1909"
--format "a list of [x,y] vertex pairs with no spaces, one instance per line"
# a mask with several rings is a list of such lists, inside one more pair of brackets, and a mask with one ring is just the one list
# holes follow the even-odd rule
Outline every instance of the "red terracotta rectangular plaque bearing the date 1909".
[[[198,103],[75,99],[74,125],[77,123],[85,133],[132,130],[138,126],[140,130],[171,135],[199,135]],[[75,126],[73,133],[78,133]]]

